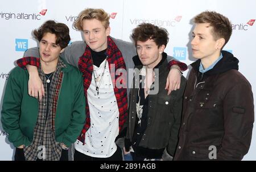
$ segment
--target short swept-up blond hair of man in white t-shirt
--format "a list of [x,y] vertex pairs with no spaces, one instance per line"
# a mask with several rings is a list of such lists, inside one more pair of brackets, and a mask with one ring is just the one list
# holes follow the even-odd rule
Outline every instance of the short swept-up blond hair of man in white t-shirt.
[[105,28],[109,27],[109,14],[101,8],[86,8],[82,10],[75,21],[74,27],[82,31],[82,20],[97,19],[101,21]]

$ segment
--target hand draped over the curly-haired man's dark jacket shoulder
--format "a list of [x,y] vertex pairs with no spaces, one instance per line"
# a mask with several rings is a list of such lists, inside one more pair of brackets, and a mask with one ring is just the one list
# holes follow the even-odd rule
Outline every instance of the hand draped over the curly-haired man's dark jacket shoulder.
[[171,94],[171,91],[176,91],[176,89],[180,88],[180,71],[175,67],[171,68],[168,77],[166,79],[166,88],[168,90],[168,95]]

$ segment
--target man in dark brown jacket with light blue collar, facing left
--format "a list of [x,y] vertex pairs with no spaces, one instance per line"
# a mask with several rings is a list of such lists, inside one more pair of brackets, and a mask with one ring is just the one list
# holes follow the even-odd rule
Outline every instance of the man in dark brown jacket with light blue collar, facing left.
[[254,122],[251,85],[238,59],[222,50],[232,35],[228,18],[205,11],[194,18],[191,64],[175,160],[242,160]]

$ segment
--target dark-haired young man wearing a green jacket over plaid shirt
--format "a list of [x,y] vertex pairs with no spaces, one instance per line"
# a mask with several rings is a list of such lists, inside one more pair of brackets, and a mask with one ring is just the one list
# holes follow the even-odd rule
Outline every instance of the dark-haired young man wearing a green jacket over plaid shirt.
[[28,72],[15,67],[6,85],[1,122],[16,147],[15,160],[68,160],[68,147],[85,123],[82,75],[59,58],[70,41],[67,25],[48,20],[34,35],[46,96],[41,101],[29,96]]

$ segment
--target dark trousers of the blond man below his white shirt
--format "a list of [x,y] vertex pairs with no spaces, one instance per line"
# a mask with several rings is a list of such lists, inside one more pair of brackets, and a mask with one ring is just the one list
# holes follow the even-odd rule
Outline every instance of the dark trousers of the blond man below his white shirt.
[[74,161],[122,161],[122,150],[121,148],[117,147],[117,151],[108,158],[96,158],[96,157],[90,157],[87,156],[84,153],[81,153],[79,151],[76,151],[75,149],[75,154],[74,154]]

